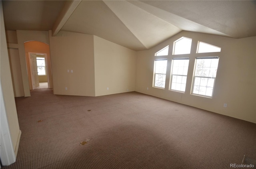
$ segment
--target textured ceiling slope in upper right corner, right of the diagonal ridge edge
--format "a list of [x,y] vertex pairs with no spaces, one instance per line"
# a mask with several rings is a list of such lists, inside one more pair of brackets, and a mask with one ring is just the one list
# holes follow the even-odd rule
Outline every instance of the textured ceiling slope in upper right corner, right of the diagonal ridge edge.
[[256,35],[256,1],[143,1],[230,37]]

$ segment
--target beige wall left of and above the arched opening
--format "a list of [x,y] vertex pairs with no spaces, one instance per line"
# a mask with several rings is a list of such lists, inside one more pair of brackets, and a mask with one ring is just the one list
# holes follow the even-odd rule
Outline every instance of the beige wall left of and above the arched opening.
[[[40,41],[49,44],[48,31],[23,31],[17,30],[18,49],[20,56],[20,67],[22,74],[22,83],[24,88],[24,96],[30,96],[29,77],[26,63],[26,52],[24,43],[27,41]],[[49,82],[50,83],[50,82]],[[52,86],[51,86],[52,87]]]

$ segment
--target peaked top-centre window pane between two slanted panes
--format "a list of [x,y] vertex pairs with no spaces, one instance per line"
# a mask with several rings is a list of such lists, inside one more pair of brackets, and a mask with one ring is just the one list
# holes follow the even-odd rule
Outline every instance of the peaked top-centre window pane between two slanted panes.
[[174,41],[173,55],[190,54],[192,39],[181,37]]

